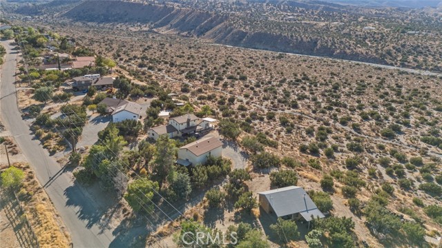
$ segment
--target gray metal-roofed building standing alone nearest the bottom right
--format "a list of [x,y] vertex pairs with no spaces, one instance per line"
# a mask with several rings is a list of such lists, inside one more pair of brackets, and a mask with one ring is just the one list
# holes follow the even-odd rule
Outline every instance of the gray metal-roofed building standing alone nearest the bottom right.
[[314,218],[325,217],[302,187],[283,187],[260,192],[258,195],[262,209],[278,218],[303,218],[309,222]]

